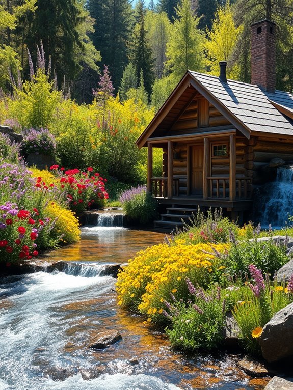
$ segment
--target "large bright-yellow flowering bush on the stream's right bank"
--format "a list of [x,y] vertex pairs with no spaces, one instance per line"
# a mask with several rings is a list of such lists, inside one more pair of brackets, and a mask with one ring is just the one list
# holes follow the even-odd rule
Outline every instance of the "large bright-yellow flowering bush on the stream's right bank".
[[171,294],[188,299],[186,278],[200,286],[211,281],[214,267],[218,269],[212,247],[224,253],[229,244],[193,245],[178,239],[171,246],[163,243],[139,252],[118,275],[118,304],[148,315],[149,322],[159,322]]

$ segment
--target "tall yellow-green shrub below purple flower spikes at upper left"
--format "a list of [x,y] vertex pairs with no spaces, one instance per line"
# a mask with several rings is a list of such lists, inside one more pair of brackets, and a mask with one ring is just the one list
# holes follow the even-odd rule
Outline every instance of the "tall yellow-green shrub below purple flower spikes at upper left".
[[49,128],[55,110],[61,101],[61,93],[54,90],[54,83],[41,69],[31,81],[25,81],[23,90],[15,88],[14,100],[9,102],[10,114],[22,128]]

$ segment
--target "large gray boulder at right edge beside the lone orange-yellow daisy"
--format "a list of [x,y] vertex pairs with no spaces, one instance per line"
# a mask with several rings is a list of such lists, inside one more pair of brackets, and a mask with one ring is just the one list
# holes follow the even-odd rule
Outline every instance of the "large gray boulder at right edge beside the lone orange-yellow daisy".
[[279,310],[264,325],[259,345],[269,363],[293,356],[293,303]]

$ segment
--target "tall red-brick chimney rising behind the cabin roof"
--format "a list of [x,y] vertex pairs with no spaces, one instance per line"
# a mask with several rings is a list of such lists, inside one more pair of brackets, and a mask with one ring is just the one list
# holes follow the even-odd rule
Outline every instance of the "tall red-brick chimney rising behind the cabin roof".
[[251,83],[276,89],[276,24],[267,19],[251,26]]

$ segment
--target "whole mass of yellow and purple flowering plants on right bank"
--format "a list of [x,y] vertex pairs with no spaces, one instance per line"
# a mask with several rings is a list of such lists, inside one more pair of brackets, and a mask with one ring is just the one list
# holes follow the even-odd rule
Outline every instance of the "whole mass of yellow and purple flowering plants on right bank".
[[286,241],[292,235],[289,227],[240,228],[221,210],[207,217],[199,212],[191,227],[129,260],[118,274],[118,305],[165,330],[182,351],[221,348],[226,315],[232,313],[242,348],[260,356],[264,325],[293,302],[293,276],[277,282],[276,274],[290,260]]

